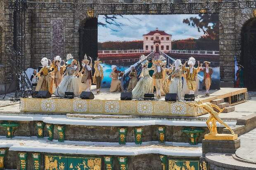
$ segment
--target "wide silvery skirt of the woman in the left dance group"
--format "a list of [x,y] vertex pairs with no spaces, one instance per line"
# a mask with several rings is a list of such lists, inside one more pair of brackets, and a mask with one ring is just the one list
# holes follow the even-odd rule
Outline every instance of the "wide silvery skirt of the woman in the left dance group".
[[79,96],[79,80],[74,75],[66,75],[55,90],[55,95],[64,97],[65,92],[73,92],[75,97]]

